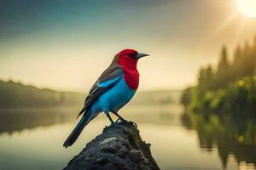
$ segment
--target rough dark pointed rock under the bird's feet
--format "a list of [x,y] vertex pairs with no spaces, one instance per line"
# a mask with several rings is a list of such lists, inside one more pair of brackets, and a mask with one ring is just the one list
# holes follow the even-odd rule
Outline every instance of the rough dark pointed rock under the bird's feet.
[[131,122],[105,127],[64,170],[159,170],[137,126]]

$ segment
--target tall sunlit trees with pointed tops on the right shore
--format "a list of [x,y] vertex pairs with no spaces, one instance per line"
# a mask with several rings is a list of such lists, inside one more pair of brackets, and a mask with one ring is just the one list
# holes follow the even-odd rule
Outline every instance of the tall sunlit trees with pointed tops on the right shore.
[[198,84],[183,93],[183,105],[200,112],[256,114],[256,37],[252,46],[246,42],[229,57],[223,47],[216,69],[201,68]]

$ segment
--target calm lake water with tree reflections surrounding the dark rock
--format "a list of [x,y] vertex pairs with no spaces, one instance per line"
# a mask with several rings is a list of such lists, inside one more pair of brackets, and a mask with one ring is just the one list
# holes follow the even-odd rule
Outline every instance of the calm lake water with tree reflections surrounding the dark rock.
[[[1,111],[0,169],[65,167],[109,123],[104,115],[96,117],[73,147],[64,149],[76,109]],[[161,169],[256,169],[253,119],[184,115],[179,105],[129,105],[120,114],[137,122]]]

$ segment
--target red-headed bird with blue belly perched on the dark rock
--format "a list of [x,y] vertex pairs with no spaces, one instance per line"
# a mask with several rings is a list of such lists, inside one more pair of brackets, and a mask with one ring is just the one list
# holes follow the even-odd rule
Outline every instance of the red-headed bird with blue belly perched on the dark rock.
[[110,125],[116,122],[113,122],[109,112],[118,116],[119,120],[126,121],[119,116],[118,111],[136,94],[140,77],[137,71],[137,61],[146,56],[148,54],[138,53],[134,49],[124,49],[113,57],[111,64],[90,88],[84,107],[77,119],[82,114],[83,116],[67,137],[63,147],[73,145],[84,127],[102,112],[108,117]]

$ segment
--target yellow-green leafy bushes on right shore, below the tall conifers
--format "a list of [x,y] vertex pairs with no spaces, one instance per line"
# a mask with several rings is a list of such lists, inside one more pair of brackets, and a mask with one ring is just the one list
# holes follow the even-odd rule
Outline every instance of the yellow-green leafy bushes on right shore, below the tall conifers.
[[[197,87],[197,91],[201,89]],[[232,112],[247,111],[256,114],[256,80],[255,77],[244,77],[230,83],[226,88],[204,91],[193,94],[190,107],[201,112]]]

